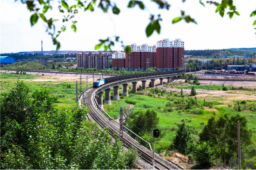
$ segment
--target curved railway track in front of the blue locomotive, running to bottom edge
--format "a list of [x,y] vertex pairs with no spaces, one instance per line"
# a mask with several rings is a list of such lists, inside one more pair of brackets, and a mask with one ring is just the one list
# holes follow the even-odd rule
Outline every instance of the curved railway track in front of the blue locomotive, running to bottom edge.
[[[107,118],[97,109],[97,106],[94,102],[94,92],[96,89],[89,89],[84,94],[84,105],[88,107],[88,116],[89,118],[93,119],[96,123],[100,125],[101,128],[108,127],[108,132],[113,138],[118,138],[119,136],[119,129],[115,127],[112,123],[110,123]],[[123,144],[126,148],[133,147],[138,151],[140,154],[140,158],[143,162],[149,164],[152,166],[152,152],[141,146],[138,142],[136,142],[133,138],[131,138],[127,134],[123,134]],[[145,149],[147,151],[145,151]],[[150,154],[151,153],[151,154]],[[158,156],[155,153],[155,157]],[[159,157],[161,159],[161,157]],[[166,163],[163,163],[166,160],[159,161],[159,158],[155,159],[155,168],[156,169],[179,169],[177,166],[170,166],[170,164],[167,165]],[[162,158],[163,159],[163,158]]]

